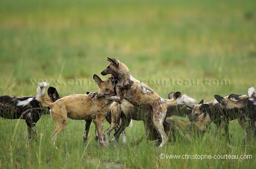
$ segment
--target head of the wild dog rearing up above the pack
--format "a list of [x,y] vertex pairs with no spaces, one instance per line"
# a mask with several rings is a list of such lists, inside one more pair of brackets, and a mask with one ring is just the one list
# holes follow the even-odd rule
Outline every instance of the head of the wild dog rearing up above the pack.
[[110,63],[109,65],[107,65],[107,68],[100,73],[102,74],[102,76],[111,74],[111,77],[113,79],[120,80],[122,76],[130,74],[128,67],[126,67],[126,65],[121,63],[119,60],[116,60],[114,58],[107,58],[107,60]]

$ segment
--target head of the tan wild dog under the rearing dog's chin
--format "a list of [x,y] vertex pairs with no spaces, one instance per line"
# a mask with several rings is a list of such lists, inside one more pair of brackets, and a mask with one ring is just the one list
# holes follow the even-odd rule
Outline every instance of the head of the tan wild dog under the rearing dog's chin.
[[102,79],[100,79],[100,77],[95,74],[93,75],[93,79],[96,82],[97,86],[100,88],[98,93],[102,93],[103,95],[110,95],[110,96],[116,95],[116,92],[115,92],[116,80],[114,78],[109,77],[108,79],[102,81]]

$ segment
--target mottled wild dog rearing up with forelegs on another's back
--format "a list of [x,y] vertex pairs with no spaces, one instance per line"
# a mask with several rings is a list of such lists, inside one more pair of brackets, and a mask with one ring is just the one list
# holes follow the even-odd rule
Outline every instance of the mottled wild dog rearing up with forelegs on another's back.
[[[168,137],[164,132],[163,122],[166,116],[167,107],[165,101],[151,88],[130,75],[128,67],[119,60],[107,58],[110,62],[101,74],[103,76],[111,74],[117,80],[116,96],[109,96],[106,99],[122,103],[124,99],[136,107],[142,107],[152,111],[152,124],[161,135],[160,147],[168,142]],[[91,97],[96,93],[91,93]],[[101,93],[98,93],[102,95]],[[117,106],[116,112],[121,113],[121,106]],[[113,113],[112,113],[113,116]],[[111,123],[119,123],[112,121]],[[107,138],[106,138],[107,139]]]

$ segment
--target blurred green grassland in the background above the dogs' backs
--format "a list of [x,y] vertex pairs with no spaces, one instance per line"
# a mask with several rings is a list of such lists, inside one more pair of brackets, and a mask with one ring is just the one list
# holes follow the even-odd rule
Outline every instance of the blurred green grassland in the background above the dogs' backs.
[[[162,97],[176,90],[206,100],[247,93],[256,84],[255,9],[253,0],[2,0],[0,94],[35,95],[31,79],[92,81],[107,57],[136,79],[154,81],[149,86]],[[173,85],[171,78],[229,83]],[[62,95],[97,90],[50,85]]]

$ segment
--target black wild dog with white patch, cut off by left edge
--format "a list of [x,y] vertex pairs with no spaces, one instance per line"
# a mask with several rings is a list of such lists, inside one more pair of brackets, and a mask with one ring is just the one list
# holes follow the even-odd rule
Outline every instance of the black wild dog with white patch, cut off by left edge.
[[[48,102],[59,99],[57,90],[50,87],[47,91]],[[36,123],[43,114],[49,113],[47,106],[40,104],[36,97],[0,96],[0,117],[7,119],[23,119],[27,125],[28,143],[36,141]]]

